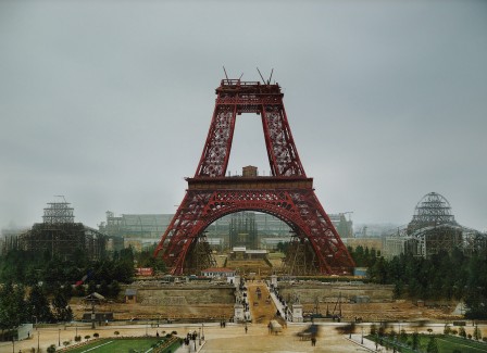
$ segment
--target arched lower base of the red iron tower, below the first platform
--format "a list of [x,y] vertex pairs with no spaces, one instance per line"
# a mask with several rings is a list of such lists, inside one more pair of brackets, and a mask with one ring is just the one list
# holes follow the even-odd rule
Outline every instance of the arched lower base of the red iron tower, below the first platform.
[[[214,265],[204,230],[224,215],[240,211],[271,214],[297,235],[286,268],[295,275],[351,273],[353,261],[321,206],[310,178],[188,178],[188,191],[155,254],[174,275]],[[300,245],[302,244],[302,245]],[[296,249],[295,249],[296,248]]]

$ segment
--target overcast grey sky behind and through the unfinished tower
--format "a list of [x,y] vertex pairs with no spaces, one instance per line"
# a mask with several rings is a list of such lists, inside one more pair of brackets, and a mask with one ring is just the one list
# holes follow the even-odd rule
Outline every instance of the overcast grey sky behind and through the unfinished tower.
[[[0,228],[174,213],[224,77],[285,93],[324,209],[407,224],[421,198],[487,230],[486,1],[0,1]],[[258,115],[229,171],[269,174]]]

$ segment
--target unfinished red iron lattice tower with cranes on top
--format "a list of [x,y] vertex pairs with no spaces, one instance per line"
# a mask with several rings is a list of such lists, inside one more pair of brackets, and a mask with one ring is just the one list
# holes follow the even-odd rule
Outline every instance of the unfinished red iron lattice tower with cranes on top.
[[[174,275],[213,265],[204,230],[235,212],[257,211],[286,222],[294,237],[285,260],[289,274],[344,274],[354,266],[307,177],[292,139],[280,87],[223,79],[207,142],[188,189],[154,251]],[[237,115],[262,118],[272,176],[226,175]]]

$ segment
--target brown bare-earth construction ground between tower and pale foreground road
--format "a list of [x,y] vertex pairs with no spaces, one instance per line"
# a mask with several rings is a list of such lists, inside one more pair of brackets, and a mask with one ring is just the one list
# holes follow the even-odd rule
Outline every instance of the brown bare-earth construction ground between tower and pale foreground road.
[[[253,280],[248,286],[264,281]],[[176,282],[138,281],[130,289],[136,290],[136,300],[124,303],[100,301],[96,305],[99,317],[113,313],[113,318],[125,322],[151,323],[196,323],[230,320],[234,317],[235,286],[222,282]],[[454,313],[457,303],[424,306],[405,300],[392,299],[392,286],[370,285],[362,282],[327,282],[327,281],[279,281],[278,290],[286,302],[299,298],[307,319],[311,314],[337,315],[341,322],[382,320],[453,320],[460,319],[460,313]],[[254,305],[257,298],[249,295],[249,304],[254,315],[253,323],[262,322],[262,311],[266,303]],[[273,304],[273,303],[272,303]],[[73,299],[72,307],[76,318],[87,317],[91,306],[80,299]],[[274,307],[274,306],[273,306]],[[266,312],[264,310],[264,312]],[[274,316],[265,317],[267,320]],[[320,320],[319,316],[316,320]],[[261,318],[258,320],[258,318]],[[326,320],[323,318],[323,320]],[[332,318],[327,319],[333,322]]]

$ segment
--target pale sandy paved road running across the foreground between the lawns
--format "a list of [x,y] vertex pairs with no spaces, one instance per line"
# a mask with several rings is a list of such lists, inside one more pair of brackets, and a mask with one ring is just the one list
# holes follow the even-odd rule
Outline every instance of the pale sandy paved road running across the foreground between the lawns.
[[[361,332],[351,336],[341,335],[336,330],[336,327],[340,324],[324,323],[322,324],[320,330],[320,337],[316,342],[316,346],[312,346],[310,341],[301,341],[298,339],[297,333],[307,327],[307,324],[292,324],[289,323],[287,328],[284,329],[283,333],[277,336],[269,335],[266,324],[248,324],[248,332],[245,332],[244,324],[228,324],[225,328],[221,328],[218,323],[207,323],[204,326],[199,325],[186,325],[186,324],[172,324],[172,325],[160,325],[159,328],[151,328],[146,325],[132,325],[132,326],[116,326],[109,325],[97,327],[95,330],[90,328],[89,325],[78,327],[67,327],[64,326],[42,328],[39,330],[34,330],[34,335],[30,335],[29,340],[15,342],[15,350],[11,342],[0,342],[0,353],[17,353],[22,350],[23,353],[29,352],[32,348],[37,348],[37,340],[39,338],[39,346],[42,352],[50,344],[55,344],[58,346],[58,340],[63,341],[73,340],[74,336],[77,333],[82,337],[87,335],[91,336],[98,332],[101,338],[113,337],[114,331],[118,331],[120,336],[155,336],[155,332],[160,335],[163,331],[171,332],[173,330],[177,331],[179,337],[186,337],[187,332],[200,331],[200,328],[204,331],[205,340],[199,345],[199,340],[197,342],[197,351],[200,353],[300,353],[300,352],[364,352],[364,351],[375,351],[375,343],[364,340],[363,345],[361,345]],[[408,331],[413,331],[417,327],[403,327]],[[61,328],[61,330],[60,330]],[[442,332],[444,325],[429,325],[427,328],[432,328],[434,332]],[[364,332],[370,330],[369,324],[364,324]],[[473,330],[469,327],[469,330]],[[482,326],[483,335],[487,335],[487,326]],[[421,328],[421,331],[426,332],[426,327]],[[470,332],[469,331],[469,332]],[[190,348],[183,346],[177,353],[188,353],[195,352],[195,344]]]

